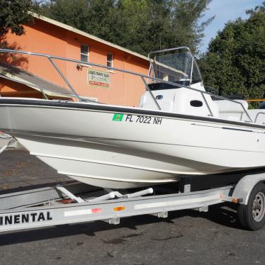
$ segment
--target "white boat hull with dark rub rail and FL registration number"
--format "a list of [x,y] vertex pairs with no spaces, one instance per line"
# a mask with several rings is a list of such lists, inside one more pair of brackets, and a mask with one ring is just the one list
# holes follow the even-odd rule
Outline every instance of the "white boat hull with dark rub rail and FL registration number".
[[88,103],[10,102],[0,100],[0,130],[86,184],[135,188],[265,166],[261,126]]

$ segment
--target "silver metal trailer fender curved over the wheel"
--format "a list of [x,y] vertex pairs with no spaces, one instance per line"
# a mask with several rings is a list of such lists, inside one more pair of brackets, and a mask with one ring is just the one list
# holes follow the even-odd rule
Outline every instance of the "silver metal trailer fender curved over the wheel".
[[240,203],[247,205],[252,189],[259,182],[265,183],[265,173],[244,176],[235,186],[232,197],[242,199]]

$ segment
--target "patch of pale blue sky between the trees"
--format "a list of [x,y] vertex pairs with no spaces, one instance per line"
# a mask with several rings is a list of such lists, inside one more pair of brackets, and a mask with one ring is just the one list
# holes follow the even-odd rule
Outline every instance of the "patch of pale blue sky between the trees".
[[213,0],[202,21],[215,16],[215,19],[208,25],[205,30],[205,38],[200,51],[205,52],[211,38],[214,38],[218,30],[224,28],[227,21],[235,21],[236,18],[247,18],[246,10],[254,9],[260,6],[264,0]]

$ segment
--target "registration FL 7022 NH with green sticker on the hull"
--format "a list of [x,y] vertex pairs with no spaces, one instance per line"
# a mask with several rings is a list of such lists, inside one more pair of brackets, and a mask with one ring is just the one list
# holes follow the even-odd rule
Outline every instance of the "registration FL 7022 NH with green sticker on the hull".
[[145,124],[161,125],[163,118],[148,116],[148,115],[114,113],[112,120],[125,121],[126,123],[145,123]]

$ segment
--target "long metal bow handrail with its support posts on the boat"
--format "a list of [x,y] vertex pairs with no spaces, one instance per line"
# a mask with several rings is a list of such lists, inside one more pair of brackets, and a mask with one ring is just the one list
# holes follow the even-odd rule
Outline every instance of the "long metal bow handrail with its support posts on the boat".
[[[183,47],[181,47],[181,48],[183,48]],[[209,95],[209,96],[214,96],[215,98],[220,98],[222,100],[227,100],[227,101],[231,101],[233,103],[239,104],[242,107],[244,113],[247,115],[247,118],[249,118],[249,121],[251,123],[253,123],[252,118],[250,118],[249,113],[247,113],[247,110],[244,108],[244,106],[243,106],[243,104],[241,102],[234,101],[234,100],[232,100],[230,98],[225,98],[223,96],[218,96],[218,95],[215,95],[215,94],[211,94],[211,93],[209,93],[207,91],[202,91],[200,89],[194,89],[194,88],[191,88],[191,86],[184,86],[184,85],[181,85],[181,84],[176,84],[176,83],[171,82],[171,81],[165,81],[163,79],[159,79],[159,78],[156,78],[156,77],[150,77],[150,76],[145,75],[145,74],[138,74],[138,73],[131,72],[131,71],[125,70],[125,69],[120,69],[120,68],[116,68],[116,67],[108,67],[108,66],[105,66],[105,65],[102,65],[102,64],[96,64],[96,63],[93,63],[93,62],[81,62],[80,60],[74,60],[74,59],[69,59],[69,58],[65,58],[65,57],[59,57],[59,56],[55,56],[55,55],[46,55],[44,53],[25,52],[25,51],[21,51],[21,50],[10,50],[10,49],[0,49],[0,53],[1,52],[3,52],[3,53],[16,53],[16,54],[23,54],[23,55],[34,55],[34,56],[40,56],[40,57],[47,57],[48,60],[50,60],[51,63],[53,62],[52,59],[55,59],[55,60],[62,60],[62,61],[66,61],[66,62],[76,62],[77,64],[85,64],[85,65],[88,65],[88,66],[101,67],[101,68],[104,68],[104,69],[114,70],[114,71],[123,72],[123,73],[127,73],[127,74],[133,74],[133,75],[135,75],[137,77],[140,77],[142,79],[142,81],[145,84],[145,89],[147,89],[148,85],[146,86],[146,81],[145,81],[144,78],[152,79],[154,81],[159,81],[159,82],[162,82],[162,83],[165,83],[165,84],[171,84],[172,86],[176,86],[177,88],[190,89],[192,91],[197,91],[198,93],[203,94],[203,101],[205,101],[205,105],[206,106],[208,106],[208,102],[207,102],[207,100],[206,100],[206,98],[204,96],[205,94]],[[60,69],[57,67],[57,65],[54,62],[52,63],[52,65],[53,65],[53,67],[55,67],[55,69],[60,74],[62,79],[64,79],[64,81],[66,82],[67,86],[69,86],[69,89],[71,89],[71,91],[74,93],[74,97],[78,98],[79,101],[81,101],[81,98],[80,98],[79,94],[77,94],[77,91],[74,89],[74,87],[69,83],[69,81],[66,79],[66,77],[64,77],[64,75],[62,74]],[[48,90],[48,89],[43,89],[43,90]],[[152,94],[152,91],[150,91],[150,89],[147,89],[147,91],[151,94],[155,105],[160,110],[159,103],[157,103],[157,100],[154,98],[154,96]],[[213,113],[210,110],[210,106],[208,106],[208,111],[209,111],[210,115],[213,116]]]

